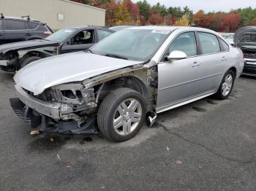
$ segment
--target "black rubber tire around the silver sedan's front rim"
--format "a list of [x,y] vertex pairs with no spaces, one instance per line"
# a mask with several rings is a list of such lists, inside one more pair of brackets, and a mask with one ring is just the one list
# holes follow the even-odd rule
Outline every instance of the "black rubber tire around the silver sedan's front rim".
[[[124,103],[124,101],[127,101],[128,99],[132,99],[139,102],[140,110],[142,111],[140,122],[137,123],[136,128],[132,130],[128,135],[120,135],[114,129],[113,119],[116,116],[118,106],[121,106],[121,104]],[[140,95],[140,93],[138,93],[135,90],[122,87],[110,92],[102,101],[102,104],[99,106],[99,111],[97,114],[97,123],[98,123],[99,130],[101,131],[103,136],[110,139],[111,141],[120,142],[120,141],[127,141],[128,139],[132,139],[132,137],[134,137],[139,132],[145,118],[146,118],[146,104],[142,95]]]

